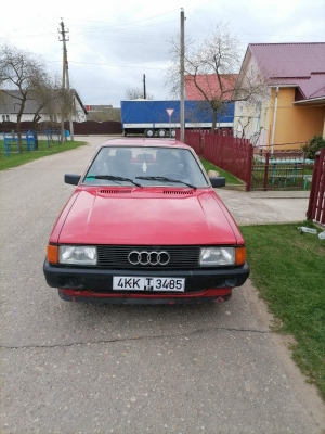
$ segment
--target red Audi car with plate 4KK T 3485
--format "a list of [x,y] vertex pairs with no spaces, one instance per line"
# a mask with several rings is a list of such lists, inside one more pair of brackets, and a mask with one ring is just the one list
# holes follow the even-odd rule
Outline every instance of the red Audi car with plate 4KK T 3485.
[[194,151],[114,139],[96,150],[50,235],[47,282],[68,302],[224,302],[249,276],[245,241]]

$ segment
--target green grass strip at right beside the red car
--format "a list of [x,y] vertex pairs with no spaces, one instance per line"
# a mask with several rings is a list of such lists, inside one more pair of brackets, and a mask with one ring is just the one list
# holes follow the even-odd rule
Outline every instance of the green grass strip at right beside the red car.
[[240,230],[251,280],[275,317],[275,330],[295,337],[292,358],[325,400],[325,240],[300,234],[298,226],[312,224]]

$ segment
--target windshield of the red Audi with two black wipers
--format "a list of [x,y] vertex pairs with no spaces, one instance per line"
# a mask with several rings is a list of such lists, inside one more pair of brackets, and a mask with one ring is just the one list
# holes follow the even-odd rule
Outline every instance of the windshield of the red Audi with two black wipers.
[[96,154],[82,182],[142,187],[208,186],[191,151],[161,146],[104,146]]

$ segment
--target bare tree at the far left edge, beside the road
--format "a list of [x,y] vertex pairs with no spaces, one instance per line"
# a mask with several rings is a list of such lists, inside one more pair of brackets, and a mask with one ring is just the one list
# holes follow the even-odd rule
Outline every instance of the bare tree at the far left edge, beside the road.
[[50,103],[56,98],[54,89],[55,82],[35,55],[10,44],[0,47],[0,93],[14,99],[18,106],[16,132],[20,152],[23,152],[21,122],[27,101],[37,102],[36,124],[42,110],[48,107],[50,111]]

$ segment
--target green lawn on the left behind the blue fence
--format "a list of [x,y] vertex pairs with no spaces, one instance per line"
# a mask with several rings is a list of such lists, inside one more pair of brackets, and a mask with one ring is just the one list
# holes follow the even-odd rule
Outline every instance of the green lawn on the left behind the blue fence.
[[26,145],[24,145],[24,152],[20,154],[17,152],[17,145],[12,145],[12,151],[9,156],[5,155],[3,140],[0,140],[0,170],[6,170],[12,167],[21,166],[25,163],[32,162],[34,159],[41,158],[43,156],[57,154],[60,152],[69,151],[78,146],[82,146],[87,142],[81,141],[67,141],[63,144],[51,144],[48,146],[47,140],[40,140],[37,151],[28,152]]

